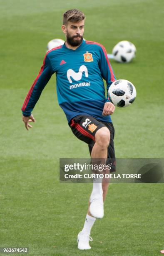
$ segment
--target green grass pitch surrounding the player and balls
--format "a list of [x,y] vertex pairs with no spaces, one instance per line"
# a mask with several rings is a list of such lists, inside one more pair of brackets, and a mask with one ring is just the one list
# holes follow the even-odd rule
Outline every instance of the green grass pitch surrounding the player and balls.
[[[0,0],[0,247],[29,247],[29,255],[160,255],[164,249],[163,184],[112,184],[105,217],[97,220],[89,251],[78,251],[92,184],[60,184],[59,158],[89,157],[87,144],[70,131],[57,104],[55,76],[42,92],[26,131],[21,120],[27,91],[37,76],[47,42],[62,38],[62,14],[87,16],[84,38],[108,53],[132,41],[137,57],[111,61],[117,79],[131,81],[137,98],[117,108],[117,158],[163,157],[162,0]],[[22,254],[19,254],[22,255]]]

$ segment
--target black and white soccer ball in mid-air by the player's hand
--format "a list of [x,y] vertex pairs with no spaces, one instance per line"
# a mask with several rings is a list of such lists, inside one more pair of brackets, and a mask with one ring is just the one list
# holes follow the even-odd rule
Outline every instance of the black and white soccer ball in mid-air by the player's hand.
[[136,98],[136,88],[125,79],[116,80],[108,90],[109,100],[119,108],[131,105]]

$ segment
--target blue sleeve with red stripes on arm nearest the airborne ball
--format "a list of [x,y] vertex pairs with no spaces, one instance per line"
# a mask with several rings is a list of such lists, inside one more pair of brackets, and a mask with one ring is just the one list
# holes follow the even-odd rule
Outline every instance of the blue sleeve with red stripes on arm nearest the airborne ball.
[[[107,57],[107,51],[104,46],[100,48],[100,59],[99,59],[99,69],[101,70],[101,74],[103,79],[107,82],[107,91],[109,86],[116,80],[113,69]],[[106,102],[109,102],[109,98],[107,96]]]

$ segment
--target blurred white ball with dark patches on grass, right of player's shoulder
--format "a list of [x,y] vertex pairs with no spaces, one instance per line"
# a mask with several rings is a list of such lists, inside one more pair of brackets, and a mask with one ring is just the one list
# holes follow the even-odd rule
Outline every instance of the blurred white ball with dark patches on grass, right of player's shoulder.
[[136,55],[136,46],[129,41],[120,41],[114,46],[112,54],[116,61],[128,63]]

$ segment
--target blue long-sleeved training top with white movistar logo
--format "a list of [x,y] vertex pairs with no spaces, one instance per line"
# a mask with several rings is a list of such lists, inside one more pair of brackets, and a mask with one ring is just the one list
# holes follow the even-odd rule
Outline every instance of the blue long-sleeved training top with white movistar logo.
[[116,80],[104,46],[83,40],[76,50],[68,49],[63,44],[48,51],[23,104],[24,116],[31,115],[42,90],[54,73],[57,99],[68,123],[76,115],[91,115],[104,122],[112,122],[110,115],[102,115],[104,103],[109,101],[105,97],[103,79],[107,82],[107,90]]

